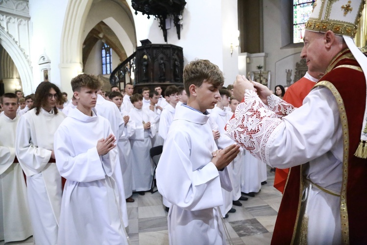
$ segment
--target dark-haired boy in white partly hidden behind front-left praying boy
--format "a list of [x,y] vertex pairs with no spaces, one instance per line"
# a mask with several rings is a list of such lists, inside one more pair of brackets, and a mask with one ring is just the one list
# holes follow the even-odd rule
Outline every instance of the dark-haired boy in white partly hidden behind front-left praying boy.
[[118,155],[120,159],[122,179],[124,180],[124,191],[126,202],[134,202],[133,199],[133,155],[131,153],[130,137],[135,133],[135,122],[130,119],[128,113],[122,109],[122,94],[113,91],[109,98],[119,109],[124,119],[123,133],[117,141]]

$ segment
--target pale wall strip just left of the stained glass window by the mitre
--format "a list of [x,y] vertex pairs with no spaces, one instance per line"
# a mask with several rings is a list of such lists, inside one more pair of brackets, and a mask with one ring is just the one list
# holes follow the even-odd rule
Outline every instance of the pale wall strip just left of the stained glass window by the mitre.
[[285,69],[296,70],[302,48],[280,49],[287,42],[288,24],[284,20],[287,9],[282,9],[286,0],[263,0],[264,52],[268,54],[266,69],[271,71],[271,89],[275,85],[286,85]]

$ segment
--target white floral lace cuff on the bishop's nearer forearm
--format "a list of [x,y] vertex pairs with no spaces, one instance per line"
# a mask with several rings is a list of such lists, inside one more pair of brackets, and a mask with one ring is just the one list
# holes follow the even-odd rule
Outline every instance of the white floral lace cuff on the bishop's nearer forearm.
[[274,103],[267,107],[255,92],[246,90],[244,102],[237,106],[226,129],[236,143],[266,164],[269,164],[266,146],[271,142],[270,136],[276,129],[279,130],[278,125],[284,126],[279,118],[282,112],[277,111],[276,114],[274,108],[284,109],[282,106],[275,107]]

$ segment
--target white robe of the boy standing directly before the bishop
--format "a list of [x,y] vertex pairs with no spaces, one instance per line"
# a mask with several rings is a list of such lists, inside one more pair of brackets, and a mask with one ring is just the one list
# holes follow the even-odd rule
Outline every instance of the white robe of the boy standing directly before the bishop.
[[170,244],[226,244],[218,207],[221,187],[231,190],[227,169],[211,163],[217,149],[209,116],[181,105],[163,147],[157,186],[173,205],[168,213]]

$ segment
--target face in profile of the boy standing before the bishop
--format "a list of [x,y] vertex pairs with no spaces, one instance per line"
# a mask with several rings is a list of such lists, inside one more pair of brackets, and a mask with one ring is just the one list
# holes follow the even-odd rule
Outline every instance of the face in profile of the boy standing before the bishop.
[[218,87],[204,81],[200,87],[196,87],[196,102],[201,110],[213,109],[220,98]]

